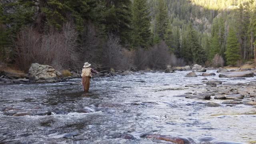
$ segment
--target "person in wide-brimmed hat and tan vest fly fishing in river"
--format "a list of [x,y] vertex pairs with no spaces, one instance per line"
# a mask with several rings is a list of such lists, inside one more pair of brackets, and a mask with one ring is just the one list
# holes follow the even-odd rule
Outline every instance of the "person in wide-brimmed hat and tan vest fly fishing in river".
[[95,70],[90,68],[91,64],[88,62],[84,63],[84,68],[82,69],[82,84],[84,86],[84,92],[89,92],[90,88],[90,78],[92,78],[92,73],[98,74]]

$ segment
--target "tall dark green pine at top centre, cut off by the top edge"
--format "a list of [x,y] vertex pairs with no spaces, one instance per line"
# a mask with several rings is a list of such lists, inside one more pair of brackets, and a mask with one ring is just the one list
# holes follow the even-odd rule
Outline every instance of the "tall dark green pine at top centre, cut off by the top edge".
[[150,18],[147,0],[132,4],[132,46],[146,48],[150,44]]

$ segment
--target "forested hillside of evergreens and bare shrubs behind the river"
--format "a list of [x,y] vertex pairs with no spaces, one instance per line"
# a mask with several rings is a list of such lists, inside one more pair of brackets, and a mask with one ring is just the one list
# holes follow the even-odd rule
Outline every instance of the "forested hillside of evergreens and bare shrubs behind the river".
[[2,0],[0,59],[80,69],[254,60],[254,0]]

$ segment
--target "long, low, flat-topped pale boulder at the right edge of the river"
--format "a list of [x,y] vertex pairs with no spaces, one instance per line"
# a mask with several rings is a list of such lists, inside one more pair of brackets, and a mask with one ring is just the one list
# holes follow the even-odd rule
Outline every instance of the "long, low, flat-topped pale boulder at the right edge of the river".
[[244,77],[254,77],[254,73],[251,71],[245,72],[226,72],[225,74],[220,74],[220,78],[244,78]]

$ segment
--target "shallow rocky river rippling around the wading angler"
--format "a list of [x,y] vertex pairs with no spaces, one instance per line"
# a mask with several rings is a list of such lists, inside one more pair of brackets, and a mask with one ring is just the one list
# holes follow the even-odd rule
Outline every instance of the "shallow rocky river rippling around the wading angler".
[[0,143],[255,144],[255,78],[188,73],[0,85]]

